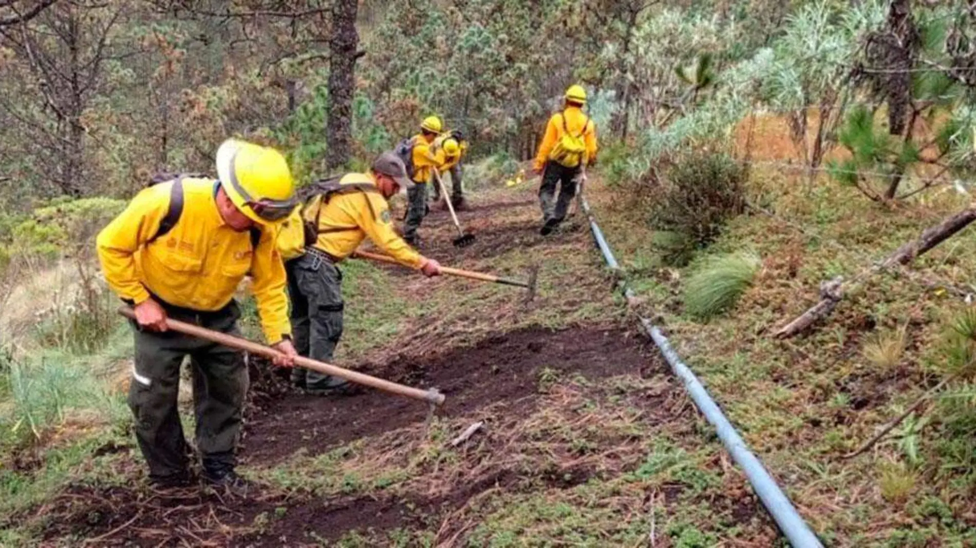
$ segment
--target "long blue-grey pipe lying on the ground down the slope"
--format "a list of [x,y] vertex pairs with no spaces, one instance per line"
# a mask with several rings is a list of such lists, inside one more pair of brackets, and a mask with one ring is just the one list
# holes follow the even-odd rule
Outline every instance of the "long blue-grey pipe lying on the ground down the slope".
[[[617,262],[617,258],[614,257],[610,245],[603,236],[603,231],[600,230],[599,225],[596,223],[596,217],[593,215],[592,210],[590,210],[590,203],[587,202],[586,197],[580,196],[580,204],[590,222],[590,232],[592,232],[593,240],[595,240],[596,246],[599,248],[600,254],[603,255],[607,266],[615,272],[620,272],[620,264]],[[620,280],[619,287],[630,303],[636,295],[630,290],[630,287],[627,286],[623,278],[620,278]],[[644,331],[658,346],[661,353],[664,354],[665,359],[671,366],[671,372],[681,379],[685,390],[695,402],[695,406],[698,407],[699,411],[702,411],[702,414],[705,415],[715,428],[715,433],[718,434],[722,445],[725,446],[725,449],[732,455],[733,460],[746,473],[746,478],[749,480],[750,485],[752,485],[752,489],[759,496],[766,510],[776,520],[780,530],[790,540],[793,547],[823,548],[823,544],[817,538],[817,535],[806,525],[806,522],[803,521],[803,518],[796,511],[793,502],[790,501],[790,498],[783,492],[783,489],[780,489],[776,481],[769,475],[769,472],[762,466],[762,462],[752,453],[752,450],[749,449],[749,446],[746,445],[746,442],[736,431],[735,427],[729,422],[721,409],[719,409],[702,382],[688,366],[684,365],[681,358],[671,348],[668,337],[655,327],[650,320],[642,318],[639,315],[637,318],[640,320]]]

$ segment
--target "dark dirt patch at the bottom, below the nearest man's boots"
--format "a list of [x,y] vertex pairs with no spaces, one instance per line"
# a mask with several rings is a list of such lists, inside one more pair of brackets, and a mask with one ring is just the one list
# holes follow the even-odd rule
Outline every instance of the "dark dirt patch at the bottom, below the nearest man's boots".
[[433,503],[393,497],[290,500],[255,490],[235,497],[201,489],[170,492],[76,486],[45,509],[46,540],[96,546],[306,546],[350,528],[423,526]]

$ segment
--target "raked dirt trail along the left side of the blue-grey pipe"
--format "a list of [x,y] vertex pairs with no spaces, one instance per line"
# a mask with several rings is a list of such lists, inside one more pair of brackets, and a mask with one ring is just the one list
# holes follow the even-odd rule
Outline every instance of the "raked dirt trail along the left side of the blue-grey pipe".
[[[240,451],[248,496],[152,491],[129,448],[112,461],[117,484],[73,485],[24,519],[50,546],[774,542],[745,481],[621,312],[580,219],[543,238],[531,189],[471,201],[461,219],[475,244],[453,248],[448,215],[432,211],[423,252],[511,276],[541,264],[536,301],[377,266],[412,316],[342,364],[438,388],[447,401],[432,418],[374,391],[305,396],[255,363]],[[451,446],[478,420],[482,431]]]

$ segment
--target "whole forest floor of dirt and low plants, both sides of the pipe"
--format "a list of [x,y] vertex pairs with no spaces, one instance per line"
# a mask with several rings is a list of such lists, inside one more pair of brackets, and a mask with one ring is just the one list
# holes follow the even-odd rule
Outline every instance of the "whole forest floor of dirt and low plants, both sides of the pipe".
[[[969,306],[947,288],[971,287],[971,229],[910,267],[931,283],[865,276],[828,321],[771,336],[816,302],[822,281],[857,275],[969,197],[942,185],[889,207],[828,176],[806,181],[787,164],[786,135],[782,121],[763,121],[754,136],[749,199],[773,215],[737,217],[686,267],[654,251],[640,189],[590,185],[636,307],[668,333],[825,545],[976,545],[976,411],[962,397],[933,398],[844,458],[946,378],[942,341]],[[82,427],[68,414],[73,435],[59,431],[0,467],[0,545],[786,545],[638,332],[583,218],[540,236],[535,190],[473,193],[461,214],[477,237],[469,248],[451,246],[445,212],[423,231],[424,252],[444,264],[512,278],[538,266],[530,303],[508,286],[344,264],[337,362],[438,388],[447,402],[432,417],[377,392],[307,397],[253,363],[240,455],[254,487],[234,498],[149,489],[127,421]],[[707,323],[688,316],[683,281],[700,259],[741,250],[762,267],[736,308]],[[871,351],[892,338],[886,356]],[[128,367],[117,369],[124,377]],[[476,421],[484,428],[453,446]]]

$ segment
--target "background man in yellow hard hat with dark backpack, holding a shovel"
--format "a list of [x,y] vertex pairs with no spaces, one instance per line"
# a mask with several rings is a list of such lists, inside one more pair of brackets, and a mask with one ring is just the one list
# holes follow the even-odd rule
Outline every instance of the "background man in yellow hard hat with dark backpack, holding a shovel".
[[413,247],[420,245],[420,228],[427,216],[427,183],[432,181],[433,170],[444,165],[444,151],[434,146],[440,134],[440,118],[427,116],[421,124],[421,133],[404,140],[397,146],[397,155],[407,169],[407,175],[415,183],[407,190],[407,219],[403,224],[403,239]]

